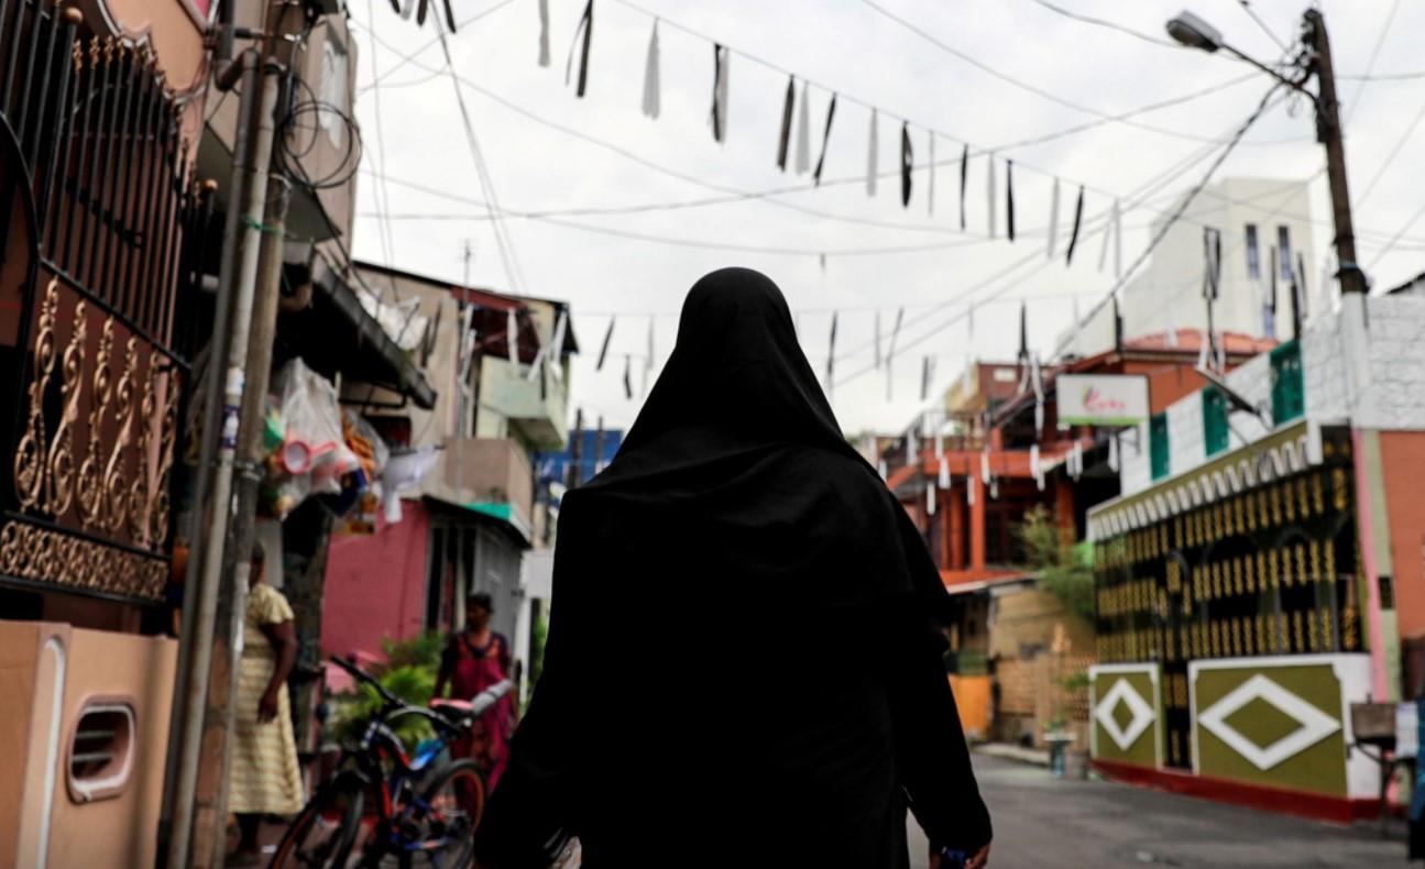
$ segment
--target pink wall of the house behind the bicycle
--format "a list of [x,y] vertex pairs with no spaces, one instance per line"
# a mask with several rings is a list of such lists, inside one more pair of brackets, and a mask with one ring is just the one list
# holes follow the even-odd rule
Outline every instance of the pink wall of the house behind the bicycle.
[[430,514],[402,501],[402,520],[370,537],[332,537],[322,603],[322,654],[380,654],[382,637],[420,633]]

